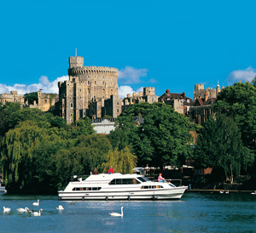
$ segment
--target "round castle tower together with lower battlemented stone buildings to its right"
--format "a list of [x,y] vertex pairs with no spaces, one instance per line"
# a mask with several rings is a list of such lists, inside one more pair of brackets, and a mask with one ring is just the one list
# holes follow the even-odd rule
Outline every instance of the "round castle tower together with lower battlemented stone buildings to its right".
[[84,58],[69,58],[69,80],[58,82],[59,101],[55,103],[56,115],[75,122],[79,118],[116,118],[125,110],[125,105],[140,101],[156,102],[154,88],[144,88],[143,94],[119,98],[118,69],[103,66],[84,66]]

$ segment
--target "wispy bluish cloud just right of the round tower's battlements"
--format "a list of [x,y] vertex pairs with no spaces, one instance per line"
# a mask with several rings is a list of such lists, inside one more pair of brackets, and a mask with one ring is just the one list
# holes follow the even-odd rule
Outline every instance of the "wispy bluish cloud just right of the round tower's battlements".
[[125,69],[119,70],[119,82],[132,84],[142,82],[141,77],[147,77],[148,69],[137,69],[131,66],[125,66]]

